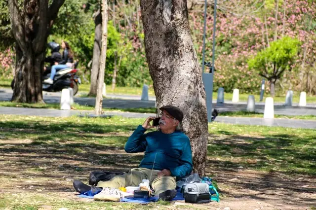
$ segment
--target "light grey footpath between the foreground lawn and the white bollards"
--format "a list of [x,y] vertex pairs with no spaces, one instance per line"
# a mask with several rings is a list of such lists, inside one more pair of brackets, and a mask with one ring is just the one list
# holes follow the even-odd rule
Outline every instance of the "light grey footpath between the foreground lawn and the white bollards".
[[[92,111],[78,110],[57,110],[43,108],[17,108],[17,107],[0,107],[0,114],[11,115],[33,115],[43,117],[69,117],[73,115],[89,115]],[[128,118],[147,118],[155,116],[155,114],[133,113],[133,112],[118,112],[107,111],[105,115],[118,115]],[[218,116],[215,122],[240,124],[240,125],[260,125],[260,126],[280,126],[287,128],[306,128],[316,129],[316,120],[297,120],[297,119],[263,119],[251,117],[221,117]]]

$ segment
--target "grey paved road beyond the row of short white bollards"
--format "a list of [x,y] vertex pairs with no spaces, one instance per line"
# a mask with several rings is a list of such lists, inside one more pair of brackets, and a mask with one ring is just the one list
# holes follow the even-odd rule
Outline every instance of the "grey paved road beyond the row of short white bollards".
[[[0,90],[0,101],[9,101],[12,96],[12,90],[2,89]],[[121,96],[121,95],[108,95],[111,98],[105,98],[103,101],[104,108],[147,108],[155,107],[154,97],[150,98],[150,101],[136,100],[137,96]],[[44,92],[43,98],[46,103],[60,103],[60,93],[47,93]],[[123,98],[123,99],[122,99]],[[75,103],[79,105],[95,105],[95,98],[74,98]],[[230,103],[227,102],[222,105],[213,103],[213,108],[223,111],[242,111],[246,109],[246,103]],[[264,112],[264,103],[256,103],[256,112]],[[316,105],[311,104],[307,107],[300,107],[294,105],[287,107],[281,103],[275,103],[275,114],[281,115],[316,115]]]

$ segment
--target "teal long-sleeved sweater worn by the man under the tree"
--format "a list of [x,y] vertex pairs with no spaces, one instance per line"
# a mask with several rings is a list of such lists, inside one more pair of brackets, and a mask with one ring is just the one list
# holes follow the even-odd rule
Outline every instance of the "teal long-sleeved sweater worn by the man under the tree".
[[141,125],[128,138],[125,144],[127,153],[144,152],[144,159],[139,168],[154,170],[168,169],[171,176],[183,177],[191,174],[192,151],[189,138],[180,131],[164,134],[154,131],[144,134],[146,129]]

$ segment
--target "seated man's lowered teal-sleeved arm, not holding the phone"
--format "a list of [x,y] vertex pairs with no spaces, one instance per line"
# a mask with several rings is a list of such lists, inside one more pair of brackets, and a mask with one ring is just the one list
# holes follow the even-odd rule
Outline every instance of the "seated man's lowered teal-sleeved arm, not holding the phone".
[[190,140],[188,140],[182,151],[180,158],[181,165],[176,168],[170,168],[171,176],[183,177],[189,175],[192,172],[192,150],[190,145]]

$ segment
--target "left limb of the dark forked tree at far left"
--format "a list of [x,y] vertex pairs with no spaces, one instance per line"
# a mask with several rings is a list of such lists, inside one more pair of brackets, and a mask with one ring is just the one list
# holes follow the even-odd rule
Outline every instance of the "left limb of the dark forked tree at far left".
[[24,30],[22,26],[21,11],[19,10],[19,6],[16,0],[9,0],[8,7],[14,38],[23,51],[26,48],[26,45]]

